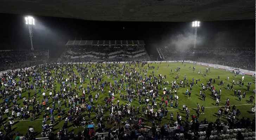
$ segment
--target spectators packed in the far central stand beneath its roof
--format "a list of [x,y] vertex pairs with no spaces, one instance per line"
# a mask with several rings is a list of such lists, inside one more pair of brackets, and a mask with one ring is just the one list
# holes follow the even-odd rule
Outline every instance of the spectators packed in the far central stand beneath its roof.
[[149,56],[143,46],[133,47],[89,47],[68,46],[60,56],[65,62],[93,62],[93,61],[134,61],[149,60]]

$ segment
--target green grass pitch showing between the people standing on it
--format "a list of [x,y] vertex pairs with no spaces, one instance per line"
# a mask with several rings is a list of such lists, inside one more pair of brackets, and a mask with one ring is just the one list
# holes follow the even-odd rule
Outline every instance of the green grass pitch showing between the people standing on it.
[[[213,122],[217,119],[217,111],[219,109],[219,107],[215,106],[215,100],[211,97],[211,91],[210,90],[207,90],[205,93],[206,93],[206,101],[203,101],[201,100],[201,98],[199,97],[199,91],[201,88],[201,83],[203,82],[204,85],[206,85],[206,82],[209,80],[209,78],[212,78],[212,79],[216,79],[216,84],[214,84],[214,86],[216,87],[216,90],[219,90],[220,88],[222,88],[222,97],[221,97],[221,102],[219,104],[219,106],[225,106],[225,100],[227,98],[230,99],[230,105],[233,106],[233,105],[237,105],[237,109],[239,109],[241,111],[241,115],[239,116],[239,118],[242,118],[242,117],[245,117],[245,118],[250,118],[251,120],[254,118],[253,115],[251,115],[249,113],[249,111],[251,110],[251,107],[255,105],[255,100],[254,100],[254,104],[249,104],[248,103],[248,100],[249,100],[249,97],[251,95],[254,95],[255,96],[255,93],[252,92],[253,89],[255,89],[255,78],[254,77],[251,77],[251,76],[245,76],[244,78],[244,87],[241,87],[241,86],[238,86],[238,85],[235,85],[233,89],[236,89],[236,90],[239,90],[241,89],[242,90],[242,93],[243,91],[246,91],[247,90],[247,83],[248,82],[252,82],[252,85],[250,87],[250,91],[249,92],[246,92],[246,97],[245,98],[242,98],[242,101],[240,102],[238,100],[237,97],[234,97],[233,96],[233,90],[227,90],[226,87],[227,87],[227,84],[230,83],[230,85],[232,85],[231,81],[234,79],[234,74],[229,72],[229,71],[224,71],[224,70],[220,70],[220,69],[214,69],[214,68],[211,68],[210,72],[208,72],[206,74],[206,77],[204,77],[202,74],[198,74],[198,70],[201,71],[201,73],[205,73],[205,69],[206,67],[205,66],[199,66],[199,65],[193,65],[191,63],[184,63],[186,64],[185,66],[182,65],[182,63],[180,62],[174,62],[174,63],[148,63],[150,66],[154,65],[155,66],[155,75],[157,76],[158,74],[162,74],[162,76],[166,75],[166,79],[164,79],[164,81],[169,81],[169,86],[167,87],[167,89],[170,89],[170,83],[171,81],[174,81],[175,80],[175,75],[178,75],[177,72],[174,72],[174,69],[177,68],[177,67],[180,67],[180,72],[179,72],[179,79],[177,79],[176,81],[179,83],[180,80],[184,80],[184,75],[186,74],[187,75],[187,78],[190,82],[192,82],[192,78],[194,79],[200,79],[201,81],[198,82],[198,84],[194,84],[194,87],[193,87],[193,91],[192,91],[192,94],[191,94],[191,98],[187,98],[188,96],[185,95],[185,91],[186,89],[189,90],[189,87],[180,87],[178,92],[177,92],[177,95],[179,96],[179,106],[178,106],[178,109],[174,109],[174,108],[171,108],[171,107],[168,107],[168,114],[167,114],[167,117],[163,118],[162,119],[162,124],[165,124],[165,123],[169,123],[169,116],[170,116],[170,113],[173,112],[174,113],[174,120],[176,120],[175,116],[177,114],[177,112],[180,112],[181,116],[182,116],[182,119],[185,120],[185,111],[183,112],[182,111],[182,105],[183,104],[186,104],[188,106],[189,109],[191,109],[191,115],[192,114],[196,114],[196,110],[193,109],[193,108],[196,108],[197,107],[197,103],[201,105],[204,105],[205,106],[205,114],[201,114],[200,115],[200,118],[199,120],[203,120],[204,118],[206,118],[209,122]],[[169,64],[169,66],[168,66]],[[93,64],[95,66],[95,64]],[[105,65],[105,64],[103,64]],[[121,64],[120,64],[121,65]],[[159,66],[159,69],[157,69],[157,67]],[[191,68],[189,68],[191,66]],[[192,67],[195,66],[196,67],[196,70],[193,71],[192,70]],[[134,67],[133,65],[132,66],[126,66],[126,69],[128,70],[130,67]],[[147,68],[147,65],[145,65],[145,68]],[[173,70],[174,74],[172,75],[171,73],[171,69]],[[136,67],[136,70],[139,71],[139,68]],[[76,73],[76,75],[79,76],[77,70],[73,69],[73,71]],[[151,70],[148,70],[148,73],[147,75],[151,75],[152,74],[152,69]],[[203,71],[203,72],[202,72]],[[53,71],[52,71],[53,72]],[[144,77],[144,74],[141,73]],[[224,81],[224,87],[222,86],[219,86],[219,83],[220,83],[220,80],[218,80],[218,76],[220,76],[220,80],[223,80]],[[230,77],[229,81],[227,80],[227,77]],[[119,76],[120,78],[121,76]],[[79,77],[80,78],[80,77]],[[236,77],[237,81],[239,81],[239,79],[242,79],[242,75],[238,75]],[[103,76],[103,80],[102,81],[107,81],[107,82],[112,82],[112,85],[114,84],[114,81],[112,80],[112,76],[111,78],[107,78],[107,76]],[[19,78],[17,78],[17,81],[19,81]],[[79,85],[79,82],[77,81],[77,85]],[[83,87],[87,87],[87,84],[89,83],[89,80],[86,79],[85,82],[83,83]],[[57,91],[59,91],[59,84],[56,84],[56,93]],[[162,86],[162,87],[165,87],[165,86]],[[74,89],[74,84],[72,83],[72,89]],[[44,89],[41,89],[41,92],[43,92]],[[77,91],[78,91],[78,88],[77,88]],[[94,104],[101,104],[101,105],[104,105],[104,101],[103,99],[105,97],[108,96],[108,91],[109,91],[109,86],[105,87],[104,89],[104,93],[101,94],[100,93],[100,98],[98,99],[98,102],[95,102],[95,99],[94,99]],[[46,92],[46,95],[49,95],[49,92],[50,90],[48,90]],[[123,89],[122,90],[123,93],[126,93],[125,90]],[[162,91],[159,91],[160,95],[162,95]],[[34,94],[34,90],[31,90],[31,96],[33,96]],[[82,91],[79,92],[79,96],[81,96],[82,94]],[[95,97],[95,94],[96,92],[92,92],[92,97]],[[87,94],[86,94],[87,95]],[[26,97],[27,98],[27,91],[23,91],[22,93],[22,98]],[[38,94],[37,96],[39,96],[39,98],[37,98],[40,103],[41,103],[41,100],[42,100],[42,95]],[[86,96],[86,102],[89,103],[88,101],[88,96]],[[2,97],[1,97],[2,98]],[[120,105],[121,104],[125,104],[125,103],[128,103],[127,101],[123,101],[120,99],[119,95],[116,93],[115,94],[115,101],[114,101],[114,104],[117,103],[117,99],[120,100]],[[143,98],[142,98],[143,99]],[[157,102],[159,103],[161,101],[161,97],[159,97],[157,99]],[[3,102],[2,100],[0,100],[0,102]],[[51,105],[51,102],[52,102],[52,99],[49,99],[49,103]],[[23,104],[22,103],[22,99],[18,100],[18,103],[19,104]],[[57,105],[57,104],[56,104]],[[136,99],[133,99],[132,101],[132,106],[135,105],[135,108],[139,105],[138,103],[138,98]],[[169,103],[168,103],[169,105]],[[146,106],[145,104],[142,106]],[[142,110],[142,106],[140,107],[140,110]],[[62,102],[62,108],[64,108],[64,102]],[[158,106],[159,108],[159,106]],[[32,109],[32,107],[30,107],[30,109]],[[67,111],[65,111],[66,113]],[[140,111],[142,112],[142,111]],[[9,113],[11,113],[11,110],[9,110]],[[41,133],[41,130],[42,130],[42,119],[43,119],[43,116],[42,116],[43,113],[41,113],[40,116],[37,116],[36,117],[36,120],[34,121],[30,121],[30,119],[28,120],[17,120],[15,119],[15,121],[18,121],[17,123],[15,123],[15,125],[12,126],[12,129],[13,129],[13,132],[17,132],[19,131],[21,134],[25,135],[26,132],[27,132],[27,128],[28,126],[33,126],[35,128],[35,132],[38,132],[37,133],[37,137],[40,137],[40,133]],[[106,117],[109,116],[109,111],[104,111],[104,120],[106,120]],[[87,115],[84,113],[83,116],[85,116],[85,118],[88,118]],[[96,118],[95,118],[95,114],[92,113],[91,114],[92,118],[93,118],[93,121],[94,123],[96,124]],[[139,114],[137,115],[138,117],[142,116],[144,117],[143,114]],[[3,116],[3,120],[5,120],[5,123],[7,122],[8,119],[5,119],[6,118],[6,115]],[[57,118],[57,112],[55,111],[55,118]],[[226,121],[226,118],[222,117],[221,118],[222,121]],[[58,119],[56,119],[56,121],[58,122]],[[125,120],[122,120],[122,121],[125,121]],[[50,120],[47,121],[47,124],[50,123]],[[55,126],[54,126],[54,133],[56,134],[63,126],[63,123],[64,123],[64,120],[62,120],[61,122],[59,123],[56,123]],[[105,123],[105,126],[106,127],[113,127],[114,125],[112,124],[111,126],[108,126],[107,125],[107,121],[104,121]],[[146,121],[145,124],[147,126],[151,126],[151,123],[149,121]],[[72,125],[70,123],[68,123],[68,125]],[[1,129],[3,129],[3,126],[1,126]],[[74,131],[75,133],[77,133],[79,130],[83,130],[83,127],[82,126],[79,126],[78,128],[73,128],[72,126],[69,127],[69,131]]]

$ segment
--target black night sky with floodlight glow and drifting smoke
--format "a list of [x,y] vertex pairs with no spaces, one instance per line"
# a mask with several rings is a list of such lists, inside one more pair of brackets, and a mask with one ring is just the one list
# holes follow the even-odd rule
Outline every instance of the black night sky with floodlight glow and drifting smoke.
[[[29,49],[25,15],[0,14],[0,49]],[[192,37],[191,22],[113,22],[85,21],[33,16],[34,48],[64,48],[68,40],[145,40],[147,50],[162,45],[172,46],[173,40],[185,42]],[[124,29],[123,29],[124,27]],[[179,38],[181,37],[181,38]],[[201,22],[198,47],[255,47],[255,21]],[[59,52],[59,51],[58,51]]]

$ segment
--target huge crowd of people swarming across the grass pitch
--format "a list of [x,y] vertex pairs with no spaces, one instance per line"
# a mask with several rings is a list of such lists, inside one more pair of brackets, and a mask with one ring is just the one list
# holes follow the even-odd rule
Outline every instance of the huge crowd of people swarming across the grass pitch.
[[[98,137],[96,132],[109,132],[108,138],[111,139],[143,140],[145,124],[148,123],[152,125],[146,136],[150,139],[161,139],[171,133],[185,133],[189,130],[198,132],[200,124],[209,124],[207,119],[199,117],[205,112],[203,105],[197,103],[196,114],[191,114],[189,106],[179,104],[180,94],[177,93],[180,88],[187,88],[185,96],[191,98],[194,86],[201,84],[200,93],[193,94],[198,94],[202,100],[205,100],[205,92],[210,90],[212,98],[216,100],[215,105],[218,106],[219,101],[225,99],[221,98],[222,89],[216,89],[214,86],[217,84],[216,80],[210,78],[203,83],[200,82],[200,78],[188,79],[187,75],[180,77],[179,73],[183,68],[171,68],[168,65],[172,75],[176,75],[175,80],[168,81],[167,75],[155,74],[155,71],[160,69],[154,64],[51,63],[37,65],[28,70],[3,73],[0,77],[0,95],[3,100],[0,125],[4,126],[4,130],[0,131],[0,138],[7,140],[12,139],[13,135],[20,137],[22,134],[14,134],[11,129],[11,126],[17,122],[15,120],[34,121],[36,117],[43,119],[41,137],[50,138],[56,135],[53,129],[58,121],[63,122],[58,132],[59,138],[75,137],[73,132],[68,131],[71,124],[73,128],[79,126],[84,128],[83,132],[79,131],[77,134],[78,139],[83,137],[101,140],[104,136]],[[193,66],[193,71],[195,69]],[[210,68],[206,71],[209,72]],[[220,85],[223,86],[222,80],[219,80]],[[244,82],[241,81],[241,85],[242,83]],[[252,91],[251,83],[247,85],[248,91]],[[94,96],[92,96],[93,92]],[[248,98],[241,91],[234,92],[237,98],[240,96]],[[157,102],[158,99],[160,102]],[[254,96],[248,99],[251,104],[254,103]],[[135,100],[138,103],[136,106],[132,104]],[[176,116],[173,112],[167,116],[168,107],[178,109],[179,106],[182,106],[186,114],[185,118],[179,112]],[[250,112],[255,114],[255,106],[252,106]],[[218,118],[225,117],[228,120],[230,128],[246,127],[255,130],[255,119],[239,117],[241,111],[236,109],[235,105],[231,106],[229,98],[225,100],[225,107],[220,107],[217,114]],[[8,118],[6,121],[4,116]],[[162,124],[164,118],[168,118],[169,123]],[[107,126],[104,122],[107,122]],[[87,128],[88,125],[97,126],[97,130]],[[119,128],[116,134],[108,127],[113,125]],[[222,129],[219,119],[209,125],[207,131],[214,128]],[[158,127],[160,132],[156,131]],[[170,127],[175,127],[175,132]],[[34,139],[33,126],[28,127],[23,137]]]

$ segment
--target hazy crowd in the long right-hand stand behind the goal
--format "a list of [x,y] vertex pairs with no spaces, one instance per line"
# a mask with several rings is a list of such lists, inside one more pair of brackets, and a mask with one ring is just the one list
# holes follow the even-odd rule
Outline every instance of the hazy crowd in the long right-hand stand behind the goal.
[[255,48],[159,48],[164,60],[192,60],[255,71]]

